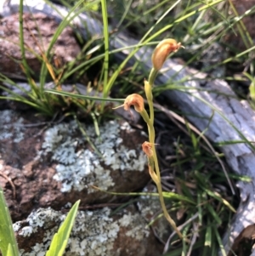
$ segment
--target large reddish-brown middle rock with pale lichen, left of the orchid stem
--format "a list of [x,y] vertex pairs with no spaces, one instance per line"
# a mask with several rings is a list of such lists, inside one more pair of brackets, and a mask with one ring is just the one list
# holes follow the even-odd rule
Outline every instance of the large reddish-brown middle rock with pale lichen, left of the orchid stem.
[[78,199],[81,206],[119,199],[92,185],[131,192],[150,180],[141,150],[146,138],[127,122],[101,123],[98,136],[94,125],[85,123],[86,135],[82,135],[74,121],[53,125],[42,133],[42,121],[32,112],[0,113],[0,172],[14,187],[1,175],[0,185],[14,221],[33,209],[58,210]]

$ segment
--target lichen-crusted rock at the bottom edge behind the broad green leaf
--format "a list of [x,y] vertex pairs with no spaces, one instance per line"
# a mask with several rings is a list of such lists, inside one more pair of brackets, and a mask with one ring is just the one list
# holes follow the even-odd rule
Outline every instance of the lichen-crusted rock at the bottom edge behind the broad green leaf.
[[[65,255],[156,256],[162,246],[135,208],[110,216],[110,208],[78,211]],[[14,230],[24,256],[45,255],[66,214],[52,208],[32,212],[26,220],[16,222]]]

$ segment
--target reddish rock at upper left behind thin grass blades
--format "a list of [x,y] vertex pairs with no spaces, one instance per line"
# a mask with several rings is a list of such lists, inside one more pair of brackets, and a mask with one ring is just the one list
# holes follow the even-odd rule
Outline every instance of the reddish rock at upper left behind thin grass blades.
[[[46,54],[59,23],[42,13],[26,13],[23,19],[26,61],[33,77],[39,77],[42,54]],[[12,14],[0,20],[0,73],[7,77],[26,79],[21,67],[19,25],[19,14]],[[63,68],[66,63],[76,59],[80,50],[74,32],[71,27],[66,26],[54,43],[49,63],[56,69]]]

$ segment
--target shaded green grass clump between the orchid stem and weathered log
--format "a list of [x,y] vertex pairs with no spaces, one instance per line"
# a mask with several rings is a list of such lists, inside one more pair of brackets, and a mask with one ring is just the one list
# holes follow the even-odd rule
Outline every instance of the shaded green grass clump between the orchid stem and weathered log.
[[[171,208],[183,214],[182,222],[190,224],[189,219],[196,216],[190,226],[185,226],[187,235],[190,240],[194,238],[194,243],[185,247],[179,245],[175,249],[169,244],[168,256],[178,255],[179,252],[188,255],[190,250],[194,250],[196,255],[216,255],[221,245],[219,233],[223,235],[224,227],[235,213],[232,207],[235,200],[217,158],[212,156],[211,151],[205,151],[207,145],[203,141],[199,142],[197,136],[191,133],[190,137],[195,138],[195,144],[190,145],[189,137],[179,134],[175,154],[177,158],[169,165],[175,170],[172,180],[178,192],[195,202],[190,204],[171,200]],[[162,179],[163,184],[169,183]],[[194,229],[199,236],[194,237]]]

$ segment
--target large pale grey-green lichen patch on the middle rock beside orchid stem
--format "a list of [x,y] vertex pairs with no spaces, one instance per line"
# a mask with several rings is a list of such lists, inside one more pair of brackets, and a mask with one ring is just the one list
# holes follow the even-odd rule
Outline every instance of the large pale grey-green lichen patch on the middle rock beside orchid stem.
[[[90,193],[94,191],[90,185],[107,190],[114,185],[111,170],[144,170],[147,159],[140,145],[134,145],[134,149],[130,150],[122,143],[120,130],[132,132],[128,123],[120,128],[116,121],[106,122],[100,126],[100,136],[95,133],[92,125],[84,126],[84,129],[101,156],[88,149],[86,138],[81,135],[77,138],[79,130],[76,122],[61,123],[45,133],[40,154],[51,153],[52,161],[57,162],[54,179],[61,182],[62,192],[87,188]],[[105,166],[109,169],[105,169]]]

